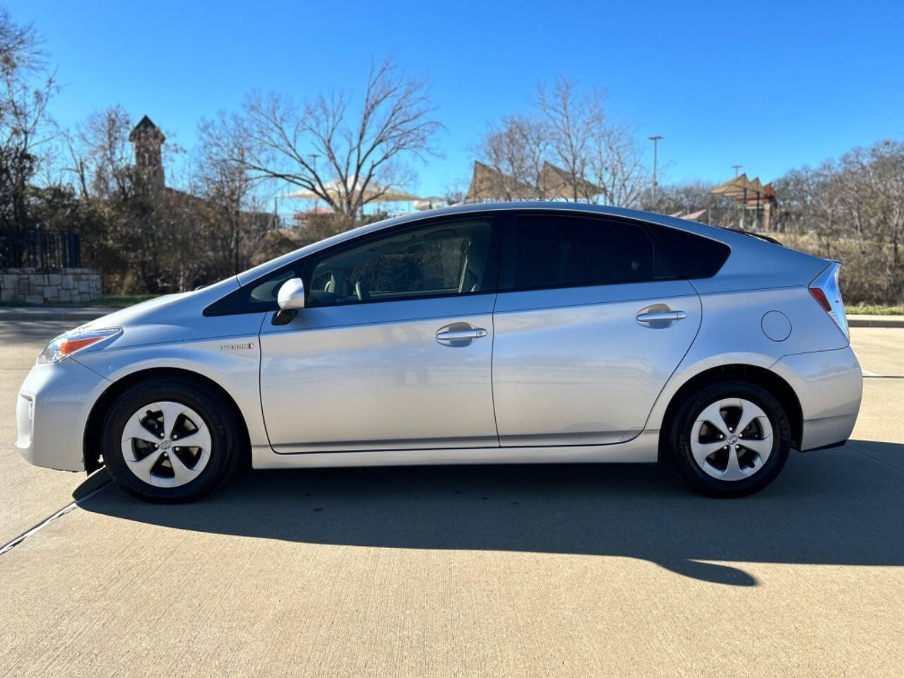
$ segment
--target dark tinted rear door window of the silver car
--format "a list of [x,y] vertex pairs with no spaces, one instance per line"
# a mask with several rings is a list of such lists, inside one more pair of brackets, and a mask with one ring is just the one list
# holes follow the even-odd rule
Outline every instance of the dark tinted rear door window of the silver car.
[[513,289],[578,287],[674,278],[642,227],[557,214],[518,220],[507,243],[504,282]]

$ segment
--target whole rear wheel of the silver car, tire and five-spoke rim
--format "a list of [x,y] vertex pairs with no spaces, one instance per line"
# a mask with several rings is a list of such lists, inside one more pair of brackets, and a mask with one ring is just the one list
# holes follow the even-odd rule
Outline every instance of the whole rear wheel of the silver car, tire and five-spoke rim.
[[684,401],[669,438],[674,465],[696,490],[742,496],[778,476],[791,447],[791,427],[768,391],[725,381]]

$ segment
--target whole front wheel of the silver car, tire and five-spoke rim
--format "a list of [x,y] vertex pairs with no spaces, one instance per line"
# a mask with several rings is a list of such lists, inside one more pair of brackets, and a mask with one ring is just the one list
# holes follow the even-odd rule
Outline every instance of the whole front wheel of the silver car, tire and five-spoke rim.
[[210,492],[237,465],[241,438],[232,410],[191,380],[152,380],[125,391],[104,422],[110,476],[148,501],[188,501]]

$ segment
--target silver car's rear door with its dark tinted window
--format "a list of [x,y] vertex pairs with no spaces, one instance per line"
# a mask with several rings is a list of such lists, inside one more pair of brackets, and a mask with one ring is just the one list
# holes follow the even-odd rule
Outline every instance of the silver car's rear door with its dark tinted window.
[[493,353],[501,445],[635,438],[700,326],[692,285],[633,221],[527,212],[503,247]]

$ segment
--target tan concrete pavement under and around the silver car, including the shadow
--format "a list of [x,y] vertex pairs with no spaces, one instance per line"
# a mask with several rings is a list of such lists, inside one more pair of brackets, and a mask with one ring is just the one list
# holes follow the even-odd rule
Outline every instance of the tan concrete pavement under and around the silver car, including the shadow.
[[904,329],[852,331],[881,375],[852,441],[743,500],[656,466],[462,466],[255,472],[179,506],[18,457],[14,395],[60,329],[0,325],[0,545],[82,497],[0,555],[0,675],[904,665]]

